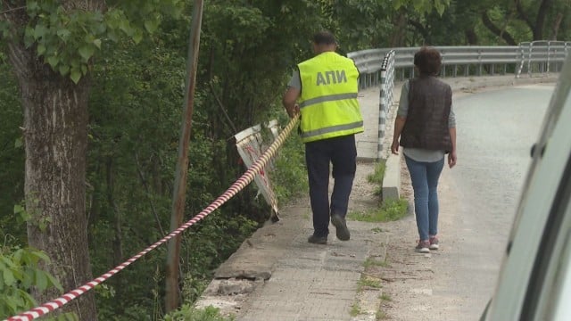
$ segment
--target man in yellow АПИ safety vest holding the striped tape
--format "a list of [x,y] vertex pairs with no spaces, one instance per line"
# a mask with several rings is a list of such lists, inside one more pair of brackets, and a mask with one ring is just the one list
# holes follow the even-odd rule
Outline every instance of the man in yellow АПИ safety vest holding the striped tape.
[[[290,117],[301,112],[313,211],[309,243],[327,243],[329,218],[339,240],[350,238],[345,215],[357,168],[355,134],[363,131],[363,119],[357,101],[359,70],[351,59],[335,53],[336,48],[333,34],[315,34],[315,57],[297,65],[282,101]],[[329,163],[335,180],[331,204]]]

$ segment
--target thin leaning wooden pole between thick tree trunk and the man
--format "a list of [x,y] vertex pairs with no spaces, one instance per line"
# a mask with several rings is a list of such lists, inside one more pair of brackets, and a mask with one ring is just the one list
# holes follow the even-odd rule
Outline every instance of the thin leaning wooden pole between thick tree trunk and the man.
[[[198,49],[200,47],[200,32],[203,21],[203,0],[194,0],[193,21],[190,30],[190,44],[186,66],[186,93],[183,108],[183,122],[178,141],[178,160],[175,173],[175,185],[172,196],[172,214],[170,216],[170,231],[181,226],[184,218],[186,202],[186,174],[188,172],[188,145],[192,129],[194,111],[194,89],[196,87],[196,70],[198,68]],[[178,262],[180,255],[181,235],[169,242],[167,256],[166,298],[165,309],[170,312],[178,309]]]

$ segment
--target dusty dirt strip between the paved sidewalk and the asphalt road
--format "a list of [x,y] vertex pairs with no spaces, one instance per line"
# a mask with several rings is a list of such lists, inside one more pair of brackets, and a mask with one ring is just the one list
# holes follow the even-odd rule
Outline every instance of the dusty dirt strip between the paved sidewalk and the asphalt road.
[[[353,210],[370,205],[360,200],[374,194],[374,185],[366,181],[368,173],[373,171],[371,164],[358,165],[352,191]],[[440,189],[448,188],[446,182],[441,181],[441,184]],[[365,271],[366,276],[380,279],[383,287],[377,320],[450,320],[451,309],[458,306],[457,299],[433,296],[434,284],[440,284],[441,279],[446,277],[434,271],[433,259],[437,258],[438,253],[420,254],[414,251],[418,234],[413,214],[412,186],[404,161],[401,161],[401,196],[409,200],[410,209],[405,218],[384,224],[383,232],[389,235],[385,264],[368,267]]]

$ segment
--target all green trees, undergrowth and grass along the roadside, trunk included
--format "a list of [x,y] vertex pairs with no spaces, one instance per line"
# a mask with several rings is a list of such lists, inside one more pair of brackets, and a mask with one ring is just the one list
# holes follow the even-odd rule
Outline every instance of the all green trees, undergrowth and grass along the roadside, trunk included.
[[[193,6],[0,3],[0,318],[72,290],[169,234]],[[571,37],[567,0],[219,0],[203,9],[185,220],[244,173],[238,131],[288,121],[280,96],[295,64],[312,56],[308,39],[318,29],[335,33],[341,54]],[[56,160],[64,154],[56,147],[75,153]],[[273,162],[282,204],[307,193],[302,155],[293,133]],[[45,167],[29,168],[37,164]],[[370,178],[377,183],[378,166]],[[385,222],[405,209],[403,200],[386,201],[349,218]],[[115,321],[187,316],[212,271],[269,213],[252,184],[181,235],[179,310],[165,304],[162,246],[62,311]]]

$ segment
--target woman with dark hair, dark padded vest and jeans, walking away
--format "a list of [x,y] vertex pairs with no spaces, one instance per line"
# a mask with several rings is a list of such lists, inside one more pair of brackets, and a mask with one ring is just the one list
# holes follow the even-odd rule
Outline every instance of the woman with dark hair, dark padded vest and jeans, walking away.
[[418,227],[416,250],[438,250],[438,179],[448,154],[448,166],[456,165],[456,119],[452,91],[436,78],[442,57],[434,48],[423,47],[414,55],[418,77],[407,81],[394,120],[391,152],[399,146],[410,172]]

